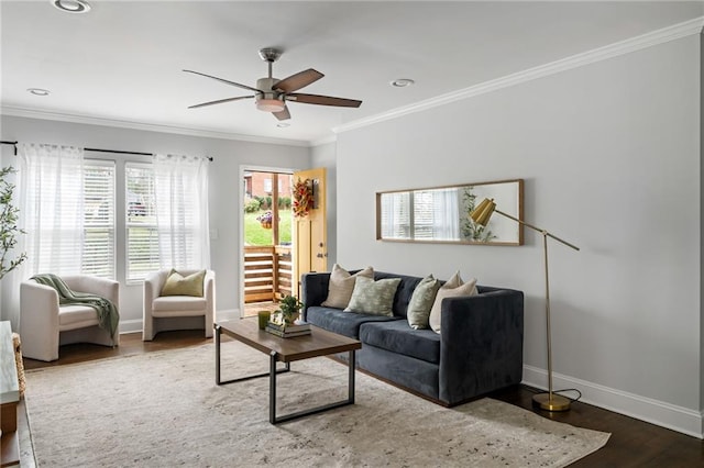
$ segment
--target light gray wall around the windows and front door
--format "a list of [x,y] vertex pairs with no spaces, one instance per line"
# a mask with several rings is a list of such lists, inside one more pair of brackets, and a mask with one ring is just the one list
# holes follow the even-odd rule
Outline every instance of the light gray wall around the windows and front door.
[[[217,275],[217,309],[228,315],[238,313],[240,308],[240,166],[290,169],[310,167],[310,148],[305,146],[207,138],[8,115],[2,115],[0,131],[3,141],[211,156],[213,161],[210,163],[209,172],[210,230],[211,233],[217,233],[217,238],[210,239],[210,256]],[[11,147],[3,148],[3,166],[12,164],[11,154]],[[119,156],[116,157],[120,159]],[[118,233],[118,245],[123,238],[124,233]],[[118,261],[123,263],[120,256]],[[118,279],[122,283],[120,330],[141,331],[142,286],[125,286],[124,276],[120,277],[120,271],[124,269],[119,265]],[[3,299],[7,296],[3,294]],[[9,310],[7,304],[3,304],[1,312],[3,319],[18,313]]]

